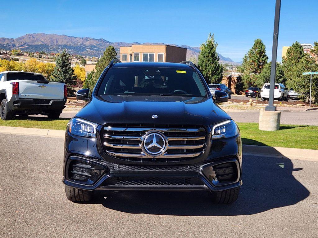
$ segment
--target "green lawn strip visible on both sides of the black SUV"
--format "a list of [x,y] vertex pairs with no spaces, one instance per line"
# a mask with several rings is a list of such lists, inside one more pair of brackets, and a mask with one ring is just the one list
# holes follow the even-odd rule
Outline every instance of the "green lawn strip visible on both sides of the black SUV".
[[[31,127],[65,130],[68,118],[59,120],[47,117],[0,120],[0,126]],[[318,126],[280,125],[279,131],[261,131],[258,123],[238,123],[245,145],[278,146],[301,149],[318,149]]]

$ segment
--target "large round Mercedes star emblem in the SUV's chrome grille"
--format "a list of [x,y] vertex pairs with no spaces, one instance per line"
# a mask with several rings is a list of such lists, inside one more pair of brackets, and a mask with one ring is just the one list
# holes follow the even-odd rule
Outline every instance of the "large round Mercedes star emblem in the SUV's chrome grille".
[[158,133],[149,133],[144,139],[143,147],[149,155],[159,155],[166,149],[166,141]]

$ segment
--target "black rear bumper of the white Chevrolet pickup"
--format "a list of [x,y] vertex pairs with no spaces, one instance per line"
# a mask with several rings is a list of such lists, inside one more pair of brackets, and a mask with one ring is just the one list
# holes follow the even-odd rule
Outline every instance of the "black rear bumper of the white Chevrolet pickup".
[[60,111],[65,108],[66,98],[63,100],[50,99],[29,99],[19,98],[13,95],[7,102],[7,108],[12,112],[26,111],[27,113],[48,113],[52,111]]

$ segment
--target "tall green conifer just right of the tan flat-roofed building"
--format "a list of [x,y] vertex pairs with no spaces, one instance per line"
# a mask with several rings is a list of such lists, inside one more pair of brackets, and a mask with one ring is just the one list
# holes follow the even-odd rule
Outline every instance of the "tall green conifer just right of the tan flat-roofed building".
[[214,41],[214,35],[211,33],[206,42],[200,45],[198,68],[208,84],[222,81],[223,66],[219,63],[217,47],[218,43]]

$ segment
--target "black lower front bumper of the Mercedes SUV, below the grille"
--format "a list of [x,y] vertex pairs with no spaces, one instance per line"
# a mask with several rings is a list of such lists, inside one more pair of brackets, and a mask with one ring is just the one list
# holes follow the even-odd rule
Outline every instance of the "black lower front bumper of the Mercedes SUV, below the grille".
[[[83,163],[89,164],[92,171],[94,171],[93,173],[99,174],[100,177],[96,179],[96,181],[91,179],[87,179],[85,182],[81,183],[74,181],[67,172],[70,168],[70,164],[73,162],[80,165],[83,165]],[[228,168],[217,169],[217,166],[229,163],[236,169],[236,171],[233,171],[236,173],[236,179],[230,182],[220,182],[217,175],[219,172],[217,171],[221,170],[222,172],[223,170],[224,172],[224,170]],[[117,166],[118,165],[116,165],[116,167]],[[121,168],[121,166],[118,166],[117,168]],[[79,171],[78,169],[76,170]],[[240,171],[241,167],[237,158],[186,167],[138,168],[138,166],[127,166],[122,170],[113,170],[111,163],[75,155],[69,157],[66,165],[66,176],[63,178],[63,183],[71,187],[85,190],[221,191],[242,185]]]

